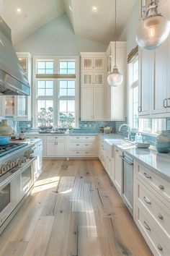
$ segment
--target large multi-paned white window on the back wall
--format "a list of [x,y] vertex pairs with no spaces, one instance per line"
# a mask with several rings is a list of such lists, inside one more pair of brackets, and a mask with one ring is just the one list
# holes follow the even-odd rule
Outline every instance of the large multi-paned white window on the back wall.
[[[33,127],[77,127],[79,121],[79,57],[35,57],[33,60]],[[36,74],[62,74],[37,78]],[[66,74],[66,76],[65,76]],[[70,76],[69,76],[70,74]],[[73,76],[73,74],[76,75]],[[76,106],[76,108],[75,108]],[[34,113],[33,113],[34,114]]]

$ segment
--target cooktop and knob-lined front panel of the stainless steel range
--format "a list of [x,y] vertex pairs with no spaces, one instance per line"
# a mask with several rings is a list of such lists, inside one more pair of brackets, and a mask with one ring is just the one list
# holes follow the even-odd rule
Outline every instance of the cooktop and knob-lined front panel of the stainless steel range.
[[0,146],[0,176],[7,171],[17,171],[17,168],[24,166],[32,158],[32,145],[27,143],[9,143]]

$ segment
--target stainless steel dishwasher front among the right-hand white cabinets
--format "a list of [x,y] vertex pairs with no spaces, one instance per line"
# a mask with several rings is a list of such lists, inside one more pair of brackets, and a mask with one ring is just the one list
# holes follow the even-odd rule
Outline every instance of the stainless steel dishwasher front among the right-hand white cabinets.
[[125,152],[120,158],[123,160],[122,200],[133,216],[133,158]]

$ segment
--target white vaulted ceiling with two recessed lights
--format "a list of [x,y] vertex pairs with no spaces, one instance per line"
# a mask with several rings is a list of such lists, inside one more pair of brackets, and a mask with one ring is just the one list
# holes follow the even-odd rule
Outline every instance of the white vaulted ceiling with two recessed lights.
[[[66,12],[74,33],[109,43],[115,39],[115,0],[0,0],[1,16],[12,29],[14,44],[19,43],[51,20]],[[117,38],[138,0],[117,0]],[[92,12],[96,6],[98,11]],[[22,9],[17,14],[17,8]]]

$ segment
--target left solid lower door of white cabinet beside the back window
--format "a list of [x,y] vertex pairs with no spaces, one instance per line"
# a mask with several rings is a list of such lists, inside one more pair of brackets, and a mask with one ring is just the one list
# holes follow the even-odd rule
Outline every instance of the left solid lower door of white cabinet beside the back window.
[[93,88],[81,88],[81,120],[93,120]]

